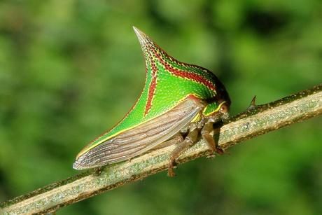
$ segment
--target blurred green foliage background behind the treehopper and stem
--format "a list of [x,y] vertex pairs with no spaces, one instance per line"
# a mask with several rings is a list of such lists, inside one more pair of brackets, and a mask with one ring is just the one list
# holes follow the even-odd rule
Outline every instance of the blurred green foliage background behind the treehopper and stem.
[[[78,174],[144,85],[132,25],[221,78],[231,113],[322,82],[321,1],[0,1],[0,202]],[[322,214],[321,118],[57,214]]]

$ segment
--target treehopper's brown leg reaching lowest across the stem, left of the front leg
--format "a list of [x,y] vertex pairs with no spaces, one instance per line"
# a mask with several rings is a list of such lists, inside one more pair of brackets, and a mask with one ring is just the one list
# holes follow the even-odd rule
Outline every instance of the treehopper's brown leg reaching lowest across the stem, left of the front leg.
[[169,160],[168,176],[173,177],[176,175],[176,174],[174,174],[174,162],[175,162],[176,158],[178,158],[179,155],[181,155],[181,153],[186,151],[190,146],[195,144],[195,141],[198,138],[198,134],[199,134],[199,130],[197,130],[197,128],[191,130],[188,133],[188,136],[183,141],[181,141],[181,143],[179,143],[176,146],[176,148],[174,148],[174,151],[172,151],[171,157]]

